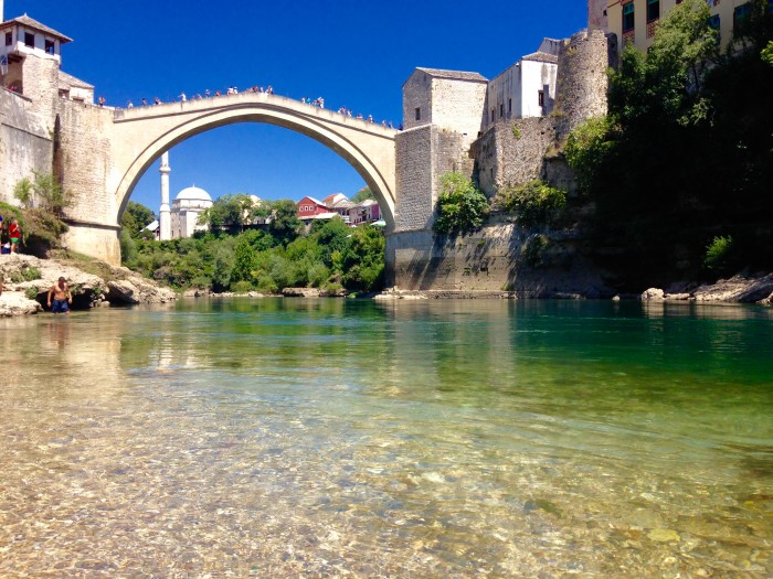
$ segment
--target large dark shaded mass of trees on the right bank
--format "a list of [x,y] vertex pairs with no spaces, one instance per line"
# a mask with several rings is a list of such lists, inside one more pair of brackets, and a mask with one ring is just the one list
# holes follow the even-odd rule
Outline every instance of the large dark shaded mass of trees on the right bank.
[[726,261],[773,269],[772,31],[767,1],[753,0],[721,50],[706,2],[682,2],[646,54],[624,50],[608,115],[569,138],[566,159],[596,207],[596,256],[621,286],[698,275],[714,237],[732,237],[723,250],[743,256]]

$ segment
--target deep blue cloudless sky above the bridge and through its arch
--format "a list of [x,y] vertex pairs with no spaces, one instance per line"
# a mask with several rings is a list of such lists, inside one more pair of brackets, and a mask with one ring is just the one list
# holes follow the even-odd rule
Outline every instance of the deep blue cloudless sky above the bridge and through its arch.
[[[324,97],[377,121],[402,121],[402,85],[417,66],[493,78],[586,24],[583,0],[6,0],[74,39],[62,68],[95,85],[112,106],[209,88],[272,85],[292,98]],[[213,197],[353,195],[362,178],[336,153],[287,129],[240,124],[170,151],[171,196],[195,184]],[[158,165],[131,200],[158,211]]]

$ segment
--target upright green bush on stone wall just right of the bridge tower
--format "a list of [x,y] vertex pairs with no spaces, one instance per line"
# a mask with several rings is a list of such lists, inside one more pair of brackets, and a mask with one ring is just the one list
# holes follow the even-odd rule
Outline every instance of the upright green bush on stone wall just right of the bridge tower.
[[488,199],[462,173],[441,176],[437,196],[437,233],[456,235],[479,229],[488,215]]

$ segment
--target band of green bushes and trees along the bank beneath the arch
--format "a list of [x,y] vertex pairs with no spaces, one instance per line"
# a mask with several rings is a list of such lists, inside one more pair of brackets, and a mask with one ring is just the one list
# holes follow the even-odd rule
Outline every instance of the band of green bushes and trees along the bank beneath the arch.
[[305,234],[289,203],[273,203],[268,225],[236,235],[216,232],[168,242],[136,240],[125,265],[180,289],[264,293],[288,287],[329,292],[381,289],[385,242],[380,230],[370,225],[350,228],[333,218],[315,223]]

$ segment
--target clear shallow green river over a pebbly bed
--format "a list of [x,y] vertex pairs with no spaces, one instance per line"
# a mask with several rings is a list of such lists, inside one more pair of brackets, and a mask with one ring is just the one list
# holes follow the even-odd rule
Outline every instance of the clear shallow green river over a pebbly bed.
[[773,576],[773,309],[0,320],[0,577]]

